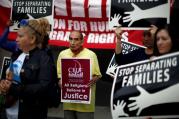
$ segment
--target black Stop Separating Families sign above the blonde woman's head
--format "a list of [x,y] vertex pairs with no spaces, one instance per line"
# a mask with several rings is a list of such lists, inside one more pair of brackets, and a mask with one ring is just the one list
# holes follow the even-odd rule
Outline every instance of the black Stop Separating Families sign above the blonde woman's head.
[[11,9],[13,26],[10,30],[18,30],[22,19],[47,18],[50,24],[53,24],[53,8],[53,0],[13,0]]

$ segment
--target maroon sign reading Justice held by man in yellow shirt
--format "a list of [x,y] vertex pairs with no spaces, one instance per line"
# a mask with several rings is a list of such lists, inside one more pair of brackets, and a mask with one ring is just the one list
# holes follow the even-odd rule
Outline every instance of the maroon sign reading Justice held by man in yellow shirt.
[[62,102],[90,103],[90,59],[62,59]]

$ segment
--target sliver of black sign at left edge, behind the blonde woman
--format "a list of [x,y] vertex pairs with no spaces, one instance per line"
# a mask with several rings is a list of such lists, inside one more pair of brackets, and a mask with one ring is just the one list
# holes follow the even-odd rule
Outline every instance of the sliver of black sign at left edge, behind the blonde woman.
[[2,68],[1,68],[1,79],[6,78],[6,70],[10,65],[10,57],[4,57],[3,63],[2,63]]

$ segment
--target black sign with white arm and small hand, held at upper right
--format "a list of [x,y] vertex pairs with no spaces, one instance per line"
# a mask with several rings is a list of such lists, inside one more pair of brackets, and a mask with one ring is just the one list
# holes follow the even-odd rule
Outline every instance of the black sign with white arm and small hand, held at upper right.
[[111,0],[109,28],[146,29],[170,21],[170,0]]

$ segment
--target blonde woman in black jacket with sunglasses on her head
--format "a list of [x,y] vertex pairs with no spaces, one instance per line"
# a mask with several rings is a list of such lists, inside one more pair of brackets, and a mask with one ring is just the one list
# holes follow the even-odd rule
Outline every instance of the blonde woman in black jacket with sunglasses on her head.
[[19,50],[11,57],[13,79],[4,80],[10,82],[4,87],[7,94],[18,101],[6,109],[6,114],[17,119],[46,119],[53,61],[39,45],[46,40],[49,24],[45,20],[22,20],[20,25],[16,39]]

